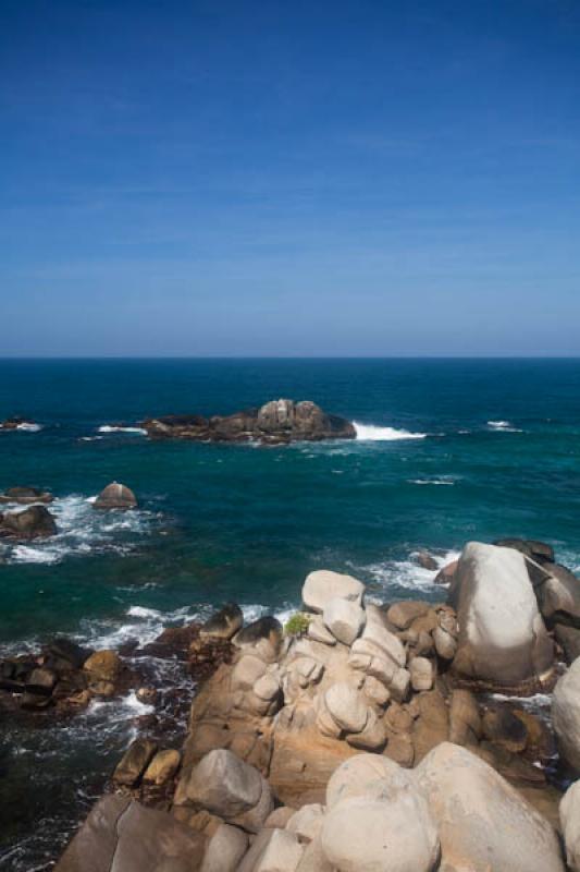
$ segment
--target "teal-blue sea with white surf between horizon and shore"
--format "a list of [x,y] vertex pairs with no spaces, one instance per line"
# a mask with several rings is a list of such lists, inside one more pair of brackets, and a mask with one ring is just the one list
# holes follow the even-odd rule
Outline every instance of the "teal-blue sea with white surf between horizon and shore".
[[[150,414],[311,399],[351,443],[149,443]],[[0,544],[0,650],[54,633],[150,640],[238,602],[283,617],[306,573],[349,572],[383,601],[441,598],[433,572],[468,540],[543,538],[580,569],[580,360],[0,361],[0,488],[37,485],[59,534]],[[138,510],[97,513],[109,482]],[[0,725],[0,865],[49,869],[133,735],[134,698],[66,727]],[[34,786],[34,790],[32,789]]]

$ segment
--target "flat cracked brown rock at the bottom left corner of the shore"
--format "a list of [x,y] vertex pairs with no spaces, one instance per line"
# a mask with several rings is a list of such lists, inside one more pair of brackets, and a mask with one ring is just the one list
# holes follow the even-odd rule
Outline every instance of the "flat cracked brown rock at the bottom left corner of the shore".
[[107,796],[92,808],[54,872],[197,872],[206,841],[171,814],[128,797]]

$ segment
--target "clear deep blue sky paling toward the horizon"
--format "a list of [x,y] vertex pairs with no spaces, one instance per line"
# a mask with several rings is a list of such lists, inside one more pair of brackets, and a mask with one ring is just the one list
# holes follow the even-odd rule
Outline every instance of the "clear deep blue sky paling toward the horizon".
[[578,0],[1,0],[0,355],[579,353]]

